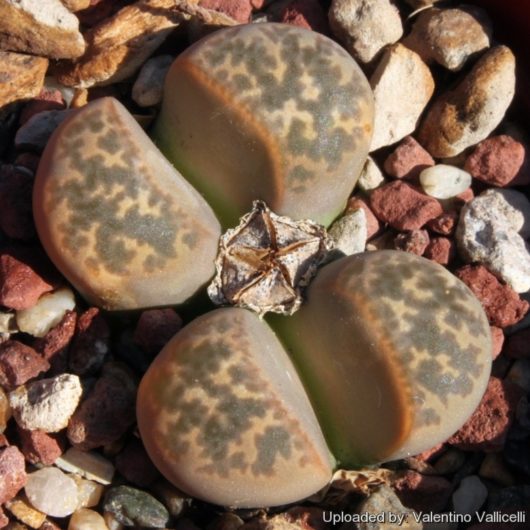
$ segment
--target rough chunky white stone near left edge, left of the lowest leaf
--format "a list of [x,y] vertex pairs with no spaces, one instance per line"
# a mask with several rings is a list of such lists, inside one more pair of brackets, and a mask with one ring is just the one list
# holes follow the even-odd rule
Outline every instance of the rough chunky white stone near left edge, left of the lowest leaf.
[[61,374],[19,386],[9,394],[9,404],[23,429],[58,432],[68,425],[81,394],[79,377]]

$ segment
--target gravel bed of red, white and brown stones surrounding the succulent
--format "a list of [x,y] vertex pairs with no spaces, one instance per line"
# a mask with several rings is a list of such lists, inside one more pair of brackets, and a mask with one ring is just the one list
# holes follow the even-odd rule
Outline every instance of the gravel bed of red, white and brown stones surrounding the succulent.
[[[372,153],[331,233],[346,254],[398,248],[448,267],[482,301],[495,361],[478,410],[439,447],[338,472],[297,506],[231,511],[167,483],[135,430],[138,381],[181,317],[87,307],[40,247],[31,192],[71,109],[113,95],[148,127],[173,58],[249,21],[325,33],[362,65]],[[0,0],[0,528],[320,529],[330,511],[530,527],[528,122],[510,107],[515,59],[494,22],[435,0]],[[469,522],[422,525],[412,510]],[[520,510],[525,524],[475,516]]]

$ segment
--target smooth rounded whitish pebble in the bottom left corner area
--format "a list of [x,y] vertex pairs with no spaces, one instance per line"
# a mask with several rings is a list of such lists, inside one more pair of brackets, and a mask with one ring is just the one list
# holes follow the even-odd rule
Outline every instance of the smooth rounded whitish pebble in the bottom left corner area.
[[52,517],[66,517],[77,507],[75,481],[56,467],[29,473],[24,491],[37,510]]

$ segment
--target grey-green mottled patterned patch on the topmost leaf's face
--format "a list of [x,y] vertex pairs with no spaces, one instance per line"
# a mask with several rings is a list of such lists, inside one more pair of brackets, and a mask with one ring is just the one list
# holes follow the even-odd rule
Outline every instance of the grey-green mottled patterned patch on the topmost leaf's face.
[[[298,29],[285,27],[260,29],[252,40],[239,37],[237,30],[230,39],[214,37],[201,56],[202,68],[238,94],[249,109],[260,109],[273,130],[287,127],[286,153],[299,161],[287,178],[302,191],[317,177],[314,163],[334,171],[366,136],[354,124],[362,122],[359,103],[366,103],[369,94],[338,62],[351,58],[328,39],[316,34],[301,38]],[[280,65],[279,77],[273,71]],[[283,112],[286,105],[300,117],[285,122],[290,119],[290,113]]]

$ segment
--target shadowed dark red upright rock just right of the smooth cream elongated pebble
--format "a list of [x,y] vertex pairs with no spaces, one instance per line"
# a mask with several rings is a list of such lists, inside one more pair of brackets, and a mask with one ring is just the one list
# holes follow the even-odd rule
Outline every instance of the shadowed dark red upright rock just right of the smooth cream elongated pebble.
[[97,372],[109,353],[110,331],[97,307],[91,307],[78,319],[70,344],[68,366],[77,375]]

